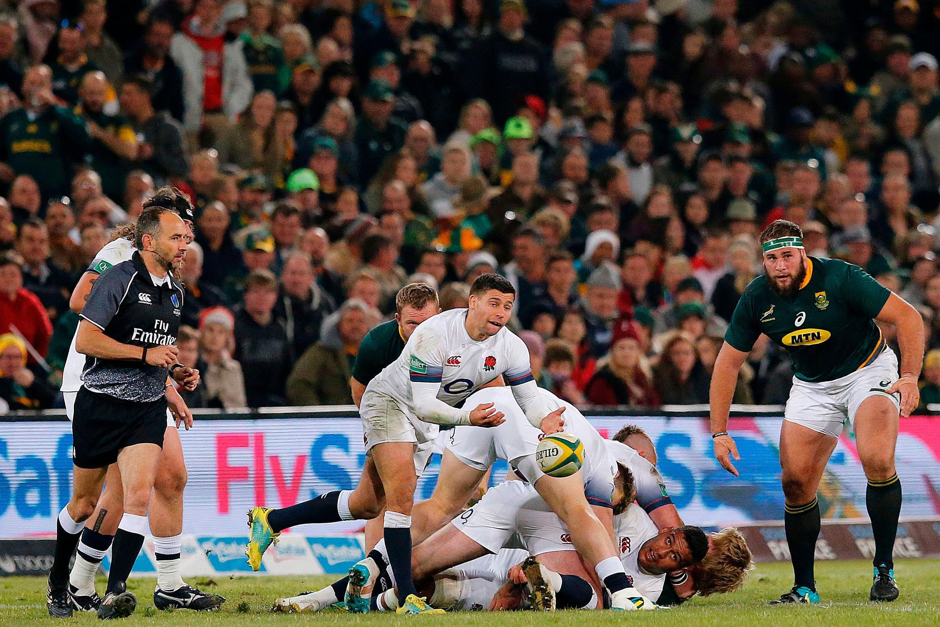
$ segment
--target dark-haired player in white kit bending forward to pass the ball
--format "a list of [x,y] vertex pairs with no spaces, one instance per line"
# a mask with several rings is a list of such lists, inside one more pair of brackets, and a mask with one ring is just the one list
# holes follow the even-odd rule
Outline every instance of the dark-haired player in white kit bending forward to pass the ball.
[[[561,430],[561,410],[550,413],[541,402],[525,344],[503,328],[514,299],[515,289],[505,278],[481,275],[471,287],[469,307],[421,324],[399,359],[384,368],[363,395],[366,449],[385,493],[384,539],[399,581],[402,614],[434,611],[415,595],[411,580],[415,450],[431,443],[442,424],[500,424],[503,416],[492,405],[472,410],[455,405],[504,372],[530,422],[550,432]],[[353,567],[351,585],[369,586],[372,569],[372,560]]]

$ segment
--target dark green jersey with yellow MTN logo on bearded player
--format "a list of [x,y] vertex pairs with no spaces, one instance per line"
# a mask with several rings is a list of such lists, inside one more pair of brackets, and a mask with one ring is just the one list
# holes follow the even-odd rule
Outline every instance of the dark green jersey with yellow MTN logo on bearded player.
[[833,381],[868,366],[885,349],[874,322],[890,291],[839,259],[807,259],[807,277],[791,298],[772,290],[766,275],[751,281],[725,334],[745,353],[760,334],[791,358],[797,379]]

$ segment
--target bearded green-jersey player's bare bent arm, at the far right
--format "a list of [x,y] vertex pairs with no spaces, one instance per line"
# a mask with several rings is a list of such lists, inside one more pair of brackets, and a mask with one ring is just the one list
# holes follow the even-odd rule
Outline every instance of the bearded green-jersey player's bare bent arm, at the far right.
[[891,384],[888,394],[901,393],[901,415],[911,415],[920,402],[917,379],[924,363],[924,320],[913,306],[891,293],[878,312],[878,321],[898,327],[898,348],[901,349],[901,379]]

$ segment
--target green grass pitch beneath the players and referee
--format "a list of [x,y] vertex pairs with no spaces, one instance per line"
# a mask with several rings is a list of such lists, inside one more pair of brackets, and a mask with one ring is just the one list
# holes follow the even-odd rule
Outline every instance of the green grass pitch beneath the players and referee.
[[[449,621],[470,627],[583,627],[585,620],[603,627],[619,623],[643,627],[794,627],[820,624],[827,627],[878,627],[882,625],[940,625],[940,560],[901,560],[896,564],[901,598],[895,603],[869,603],[871,565],[869,562],[832,562],[818,564],[817,587],[823,598],[820,605],[767,607],[791,587],[790,564],[761,564],[751,572],[743,590],[707,599],[696,598],[681,608],[657,612],[556,612],[537,615],[533,612],[495,614],[488,612],[455,613],[446,617],[404,618],[389,614],[352,615],[340,611],[321,614],[271,614],[274,599],[297,594],[302,590],[321,588],[332,576],[313,577],[241,577],[212,582],[205,578],[192,583],[207,591],[227,597],[218,613],[158,612],[152,607],[153,579],[132,579],[130,589],[137,595],[137,611],[130,619],[118,622],[132,627],[195,627],[243,625],[372,625],[408,624],[409,620]],[[99,581],[99,590],[104,588]],[[0,627],[33,625],[99,624],[92,614],[76,614],[71,620],[50,619],[45,608],[45,580],[38,577],[0,578]]]

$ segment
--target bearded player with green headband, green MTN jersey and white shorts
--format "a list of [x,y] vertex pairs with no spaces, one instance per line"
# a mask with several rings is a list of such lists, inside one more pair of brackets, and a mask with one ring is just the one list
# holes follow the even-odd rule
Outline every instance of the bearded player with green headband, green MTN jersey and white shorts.
[[[917,310],[858,266],[807,257],[803,232],[776,220],[760,234],[764,272],[754,279],[731,317],[715,361],[712,389],[714,455],[733,475],[740,460],[728,434],[738,370],[764,334],[789,353],[790,399],[780,429],[784,525],[793,564],[793,588],[772,603],[819,603],[813,554],[820,533],[816,490],[845,418],[855,432],[868,478],[866,502],[875,539],[871,601],[894,601],[891,553],[901,514],[901,481],[894,449],[899,413],[917,407],[924,358],[924,324]],[[875,321],[898,328],[898,358]]]

